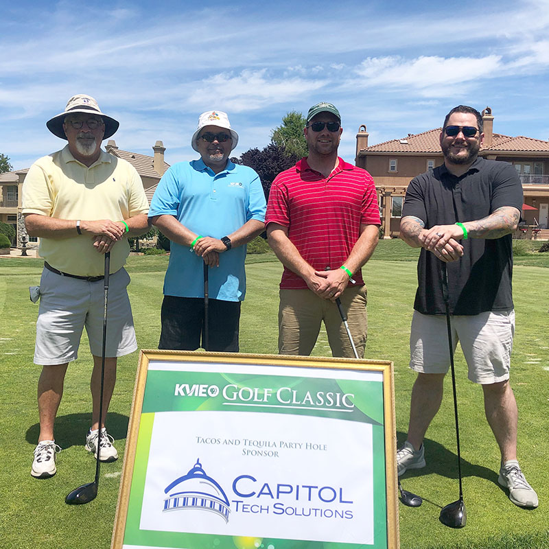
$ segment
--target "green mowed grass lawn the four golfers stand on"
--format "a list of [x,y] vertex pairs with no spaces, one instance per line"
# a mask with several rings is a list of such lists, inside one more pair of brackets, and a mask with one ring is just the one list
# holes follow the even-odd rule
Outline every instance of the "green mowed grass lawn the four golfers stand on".
[[[549,547],[549,486],[545,463],[548,432],[549,254],[517,255],[513,274],[517,331],[512,385],[519,406],[519,459],[537,489],[539,509],[513,505],[497,483],[499,452],[484,419],[482,390],[467,381],[465,361],[456,353],[458,406],[467,526],[451,530],[439,520],[441,506],[458,497],[456,442],[451,382],[434,419],[425,453],[428,465],[404,476],[404,487],[424,498],[419,509],[399,504],[401,547],[406,549],[537,549]],[[393,360],[397,438],[404,440],[414,374],[408,369],[408,333],[416,287],[418,250],[403,242],[382,241],[365,268],[369,288],[369,340],[366,358]],[[37,305],[28,286],[37,284],[41,261],[0,259],[0,547],[16,549],[110,547],[122,460],[102,465],[100,494],[91,504],[67,506],[65,495],[93,480],[94,459],[84,450],[91,418],[91,356],[84,336],[80,357],[69,367],[56,423],[63,448],[58,474],[48,480],[30,476],[38,436],[36,379],[32,364]],[[130,257],[130,299],[139,347],[158,344],[166,256]],[[278,283],[281,266],[272,254],[248,256],[248,294],[242,306],[243,352],[277,352]],[[329,355],[323,332],[315,355]],[[137,353],[121,358],[108,426],[119,454],[124,453]],[[93,530],[92,530],[93,528]]]

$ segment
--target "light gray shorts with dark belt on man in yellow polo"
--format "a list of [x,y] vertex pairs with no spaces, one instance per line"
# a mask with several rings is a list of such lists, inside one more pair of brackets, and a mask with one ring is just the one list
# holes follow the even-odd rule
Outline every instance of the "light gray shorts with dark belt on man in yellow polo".
[[[124,268],[109,277],[106,357],[137,349],[132,309]],[[78,358],[82,329],[86,327],[93,355],[101,356],[103,344],[104,281],[63,277],[47,269],[40,279],[40,309],[36,321],[34,364],[65,364]]]

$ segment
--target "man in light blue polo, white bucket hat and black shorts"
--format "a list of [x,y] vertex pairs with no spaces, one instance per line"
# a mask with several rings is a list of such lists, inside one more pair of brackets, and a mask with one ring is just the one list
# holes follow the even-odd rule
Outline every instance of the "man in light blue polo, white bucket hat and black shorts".
[[237,143],[226,113],[203,113],[191,139],[201,159],[170,167],[152,197],[149,217],[172,241],[159,349],[200,347],[205,263],[210,297],[207,350],[238,351],[246,244],[264,230],[266,202],[257,173],[229,160]]

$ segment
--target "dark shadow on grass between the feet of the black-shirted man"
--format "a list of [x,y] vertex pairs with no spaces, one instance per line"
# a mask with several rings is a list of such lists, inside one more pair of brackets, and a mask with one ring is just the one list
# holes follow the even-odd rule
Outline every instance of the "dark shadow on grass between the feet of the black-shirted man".
[[[397,432],[397,439],[400,441],[406,440],[406,433]],[[423,441],[425,445],[425,467],[423,469],[410,469],[404,474],[404,478],[423,476],[428,474],[436,474],[445,476],[446,478],[458,479],[458,456],[455,452],[445,448],[440,443],[431,439],[425,439]],[[399,445],[400,447],[400,445]],[[461,475],[465,478],[467,476],[476,476],[479,478],[485,478],[490,482],[493,482],[502,491],[505,491],[498,483],[499,471],[493,471],[488,467],[482,465],[476,465],[461,456]],[[402,478],[402,477],[401,477]]]

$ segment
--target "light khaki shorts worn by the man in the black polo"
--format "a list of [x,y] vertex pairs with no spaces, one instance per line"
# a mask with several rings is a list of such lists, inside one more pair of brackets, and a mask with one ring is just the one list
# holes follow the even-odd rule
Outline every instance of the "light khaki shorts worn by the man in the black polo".
[[[452,347],[458,341],[469,367],[471,382],[492,384],[509,379],[515,335],[515,312],[484,312],[452,316]],[[410,368],[420,373],[447,373],[448,330],[445,315],[414,311],[410,331]]]

